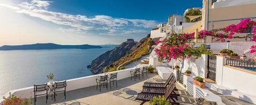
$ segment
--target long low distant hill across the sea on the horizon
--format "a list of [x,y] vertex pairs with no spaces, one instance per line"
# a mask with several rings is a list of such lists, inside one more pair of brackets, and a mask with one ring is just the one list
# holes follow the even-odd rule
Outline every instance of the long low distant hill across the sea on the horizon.
[[0,50],[29,50],[29,49],[89,49],[89,48],[102,48],[101,46],[94,45],[57,45],[53,43],[48,44],[32,44],[32,45],[4,45]]

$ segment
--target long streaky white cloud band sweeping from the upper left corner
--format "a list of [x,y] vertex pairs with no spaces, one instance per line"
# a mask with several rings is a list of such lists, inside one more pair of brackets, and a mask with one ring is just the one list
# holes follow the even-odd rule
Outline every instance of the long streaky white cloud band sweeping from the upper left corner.
[[[31,2],[22,2],[18,5],[0,4],[0,6],[5,6],[14,9],[17,13],[28,14],[29,16],[41,18],[58,25],[70,26],[72,27],[71,29],[76,29],[74,33],[84,30],[109,30],[107,34],[115,34],[118,31],[121,31],[123,34],[132,34],[134,33],[133,31],[142,30],[122,30],[125,27],[150,28],[156,25],[154,20],[114,18],[106,15],[87,17],[84,15],[51,12],[47,9],[51,3],[50,1],[32,0]],[[61,28],[59,30],[65,29]]]

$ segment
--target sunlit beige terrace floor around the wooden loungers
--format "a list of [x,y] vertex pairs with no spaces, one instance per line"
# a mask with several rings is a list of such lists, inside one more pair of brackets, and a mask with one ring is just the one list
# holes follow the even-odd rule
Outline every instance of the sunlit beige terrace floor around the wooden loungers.
[[[73,91],[67,91],[66,100],[64,99],[64,93],[58,93],[56,102],[49,97],[47,104],[71,104],[71,105],[88,105],[88,104],[140,104],[141,101],[135,100],[137,93],[141,92],[144,82],[164,82],[156,73],[148,74],[148,77],[141,78],[141,80],[134,81],[131,78],[125,78],[117,81],[117,86],[113,86],[112,89],[106,90],[102,88],[96,90],[96,86],[77,89]],[[180,104],[192,104],[195,99],[182,87],[176,85],[179,89],[178,93],[181,95],[178,102]],[[99,89],[99,88],[98,88]],[[34,102],[34,100],[33,100]],[[36,104],[46,104],[45,97],[38,97]],[[148,102],[144,104],[149,104]]]

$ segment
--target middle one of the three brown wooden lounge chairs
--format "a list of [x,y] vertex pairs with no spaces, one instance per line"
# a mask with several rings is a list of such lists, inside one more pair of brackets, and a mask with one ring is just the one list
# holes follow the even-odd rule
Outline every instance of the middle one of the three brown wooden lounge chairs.
[[[169,85],[175,87],[175,82],[176,82],[176,78],[172,78],[171,81],[170,81],[170,83],[169,83]],[[166,88],[155,88],[155,87],[150,88],[150,87],[144,87],[141,92],[142,92],[142,93],[165,94],[166,90],[167,90]],[[177,89],[174,88],[174,90],[177,90]],[[175,95],[175,94],[176,94],[176,93],[173,91],[173,95]],[[180,96],[180,95],[175,95],[175,96]]]

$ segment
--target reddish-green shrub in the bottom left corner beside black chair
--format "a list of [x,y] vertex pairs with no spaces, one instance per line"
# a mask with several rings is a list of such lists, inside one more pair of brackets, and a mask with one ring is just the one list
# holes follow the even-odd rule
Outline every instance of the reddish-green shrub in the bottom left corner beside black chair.
[[3,97],[4,101],[1,105],[32,105],[32,98],[18,98],[14,95],[11,95],[11,92],[9,92],[9,97],[5,98]]

